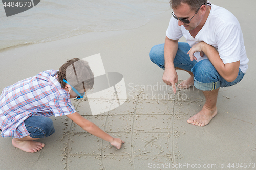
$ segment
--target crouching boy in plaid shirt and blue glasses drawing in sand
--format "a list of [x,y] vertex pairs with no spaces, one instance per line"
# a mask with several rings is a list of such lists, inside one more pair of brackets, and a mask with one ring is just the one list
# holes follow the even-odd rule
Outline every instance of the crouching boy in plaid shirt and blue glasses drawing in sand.
[[111,137],[83,118],[71,104],[70,98],[82,98],[93,85],[94,76],[88,62],[74,58],[59,71],[40,72],[4,88],[0,95],[1,136],[13,137],[14,147],[34,153],[45,146],[34,140],[55,132],[49,117],[66,115],[87,132],[120,149],[124,141]]

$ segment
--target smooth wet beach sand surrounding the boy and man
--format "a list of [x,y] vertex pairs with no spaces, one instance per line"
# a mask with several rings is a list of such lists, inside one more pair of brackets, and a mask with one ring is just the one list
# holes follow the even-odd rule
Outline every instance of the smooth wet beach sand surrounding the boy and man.
[[[137,29],[87,33],[0,51],[1,89],[40,71],[58,69],[67,59],[100,53],[106,72],[120,72],[130,94],[123,105],[97,116],[91,115],[86,100],[72,101],[81,115],[124,140],[121,149],[84,132],[67,117],[52,117],[56,132],[38,140],[44,142],[45,147],[37,153],[16,149],[11,138],[0,138],[1,169],[179,169],[180,164],[184,165],[183,169],[204,164],[211,166],[206,169],[223,169],[223,164],[227,169],[229,163],[230,166],[234,163],[234,167],[239,164],[236,169],[240,169],[241,163],[255,165],[256,90],[253,85],[256,68],[252,56],[256,24],[251,18],[256,17],[253,9],[256,4],[252,0],[246,4],[231,0],[211,2],[227,8],[240,21],[250,61],[239,84],[220,89],[218,114],[207,126],[197,127],[186,122],[200,111],[205,101],[195,87],[179,90],[175,98],[169,100],[157,100],[155,94],[174,96],[172,91],[158,89],[151,93],[150,88],[133,88],[164,85],[163,70],[150,61],[148,52],[152,46],[164,43],[172,12],[169,10],[151,16],[149,23]],[[182,71],[178,74],[183,80],[189,76]],[[146,94],[153,97],[145,98]],[[248,169],[252,167],[253,164]]]

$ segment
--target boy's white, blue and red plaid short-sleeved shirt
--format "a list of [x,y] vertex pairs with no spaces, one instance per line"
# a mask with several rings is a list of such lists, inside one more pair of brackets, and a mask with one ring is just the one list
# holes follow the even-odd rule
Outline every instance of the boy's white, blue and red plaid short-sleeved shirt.
[[56,70],[40,72],[4,88],[0,96],[2,137],[28,136],[24,121],[32,115],[62,116],[75,113],[70,95],[56,79]]

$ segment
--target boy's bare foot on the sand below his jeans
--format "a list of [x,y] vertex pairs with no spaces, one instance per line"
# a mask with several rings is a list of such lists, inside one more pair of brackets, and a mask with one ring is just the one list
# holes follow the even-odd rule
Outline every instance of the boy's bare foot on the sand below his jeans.
[[12,145],[14,145],[14,147],[17,147],[23,151],[31,152],[31,153],[40,151],[42,149],[42,147],[45,146],[44,143],[36,142],[33,140],[23,141],[23,140],[19,140],[17,138],[12,139]]

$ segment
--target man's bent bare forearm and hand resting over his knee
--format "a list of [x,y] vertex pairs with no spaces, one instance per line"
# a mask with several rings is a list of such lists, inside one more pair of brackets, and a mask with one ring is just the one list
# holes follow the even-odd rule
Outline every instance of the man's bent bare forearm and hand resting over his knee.
[[221,77],[223,77],[227,82],[232,82],[237,78],[240,61],[224,64],[218,51],[213,46],[208,45],[205,42],[197,43],[188,51],[187,54],[189,54],[191,61],[195,59],[195,52],[200,52],[201,56],[204,53]]

